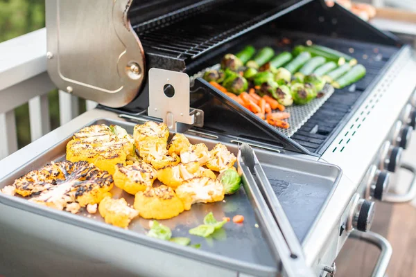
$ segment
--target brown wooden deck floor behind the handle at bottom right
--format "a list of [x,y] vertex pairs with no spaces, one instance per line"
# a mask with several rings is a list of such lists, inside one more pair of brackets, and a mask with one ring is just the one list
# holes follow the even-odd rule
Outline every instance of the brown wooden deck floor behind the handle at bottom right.
[[[376,204],[372,231],[390,241],[393,248],[388,277],[416,276],[416,208],[410,204]],[[338,277],[369,277],[379,249],[348,240],[336,260]]]

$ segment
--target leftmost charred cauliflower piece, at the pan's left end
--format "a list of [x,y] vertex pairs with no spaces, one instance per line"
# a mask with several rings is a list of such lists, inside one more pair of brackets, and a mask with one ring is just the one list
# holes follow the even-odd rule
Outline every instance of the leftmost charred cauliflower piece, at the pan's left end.
[[64,179],[64,172],[67,172],[71,164],[69,161],[51,162],[40,170],[28,172],[13,183],[15,193],[26,197],[55,186],[58,179]]

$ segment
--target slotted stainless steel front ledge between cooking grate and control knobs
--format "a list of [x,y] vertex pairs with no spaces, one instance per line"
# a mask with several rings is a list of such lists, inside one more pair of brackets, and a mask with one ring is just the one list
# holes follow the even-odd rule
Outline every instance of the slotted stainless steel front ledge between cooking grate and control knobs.
[[[379,153],[383,141],[390,133],[390,128],[415,89],[416,80],[411,73],[415,71],[415,52],[410,46],[405,46],[379,82],[369,88],[371,91],[367,98],[322,154],[322,160],[343,169],[343,177],[322,217],[318,220],[316,228],[303,244],[306,261],[317,268],[320,266],[319,260],[323,260],[327,257],[325,253],[331,251],[332,246],[327,244],[331,232],[339,231],[345,224],[346,207],[350,204],[354,193],[361,193],[357,191],[358,184],[361,184],[368,167],[376,163],[374,160],[376,153]],[[393,102],[395,105],[392,105]],[[338,237],[335,256],[345,240],[345,235]],[[324,262],[328,265],[332,261]]]

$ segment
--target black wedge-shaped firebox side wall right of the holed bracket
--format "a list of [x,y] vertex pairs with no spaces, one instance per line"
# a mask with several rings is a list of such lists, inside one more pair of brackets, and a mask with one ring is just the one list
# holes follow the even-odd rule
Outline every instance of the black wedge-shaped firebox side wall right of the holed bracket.
[[[279,129],[272,127],[264,120],[261,120],[258,116],[254,115],[251,111],[241,106],[238,102],[229,98],[224,93],[218,89],[212,87],[207,81],[202,78],[196,78],[193,80],[192,91],[194,96],[198,100],[194,100],[191,105],[193,108],[202,109],[207,115],[206,119],[213,118],[216,120],[217,124],[224,123],[225,120],[231,121],[229,127],[232,126],[248,129],[248,125],[254,127],[254,129],[248,130],[248,134],[245,136],[256,136],[259,139],[266,141],[273,141],[275,144],[279,145],[284,150],[300,152],[302,154],[311,154],[309,150],[302,147],[299,143],[293,141],[285,134],[281,133]],[[191,99],[192,94],[191,93]],[[224,116],[221,116],[220,113],[223,113]],[[219,117],[219,118],[218,118]],[[209,124],[205,121],[204,125]],[[234,122],[232,121],[234,120]],[[250,134],[250,132],[255,132],[255,134]],[[229,129],[224,129],[224,132],[229,132]],[[236,132],[239,132],[240,129],[237,128]]]

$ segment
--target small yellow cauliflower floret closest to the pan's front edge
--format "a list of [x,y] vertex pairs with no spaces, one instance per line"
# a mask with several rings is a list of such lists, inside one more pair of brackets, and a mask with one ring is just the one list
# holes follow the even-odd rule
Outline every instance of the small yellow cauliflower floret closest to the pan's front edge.
[[98,211],[104,217],[105,223],[121,228],[127,228],[132,219],[139,215],[138,211],[127,205],[124,198],[105,197],[98,205]]

